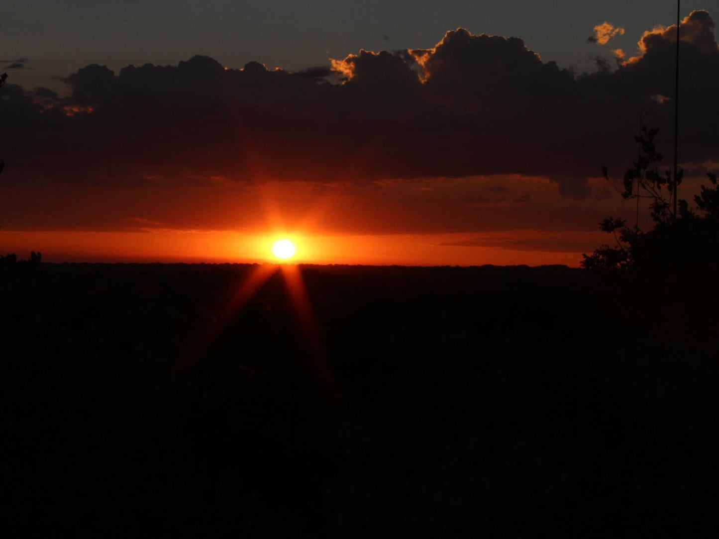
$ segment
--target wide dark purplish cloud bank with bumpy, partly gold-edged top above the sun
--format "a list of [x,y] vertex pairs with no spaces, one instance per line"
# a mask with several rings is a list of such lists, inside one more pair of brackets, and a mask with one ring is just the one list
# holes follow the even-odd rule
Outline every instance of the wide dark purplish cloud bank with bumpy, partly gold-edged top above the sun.
[[[687,164],[719,153],[713,27],[706,11],[684,22]],[[635,157],[640,111],[669,147],[673,107],[656,96],[674,95],[673,35],[672,27],[646,32],[638,56],[580,75],[516,37],[465,29],[431,49],[360,50],[296,73],[256,62],[228,69],[206,56],[119,73],[93,64],[65,78],[64,98],[6,85],[0,145],[15,171],[58,184],[514,174],[549,178],[580,198],[602,165],[617,175]],[[337,78],[344,83],[329,82]]]

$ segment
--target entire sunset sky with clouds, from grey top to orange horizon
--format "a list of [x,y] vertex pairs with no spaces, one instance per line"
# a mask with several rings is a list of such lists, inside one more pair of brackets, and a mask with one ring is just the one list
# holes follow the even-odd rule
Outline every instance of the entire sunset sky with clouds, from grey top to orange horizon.
[[[719,0],[682,2],[680,198],[719,170]],[[674,129],[675,1],[6,0],[0,253],[577,265]],[[692,206],[692,204],[690,204]],[[646,208],[641,219],[648,221]],[[633,218],[633,217],[632,217]]]

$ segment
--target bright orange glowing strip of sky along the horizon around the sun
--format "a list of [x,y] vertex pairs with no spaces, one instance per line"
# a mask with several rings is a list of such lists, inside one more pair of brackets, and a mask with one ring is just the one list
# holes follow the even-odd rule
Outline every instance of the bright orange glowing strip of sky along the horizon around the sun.
[[[288,236],[232,231],[3,231],[0,252],[14,252],[24,259],[30,251],[40,251],[47,262],[276,264],[278,259],[273,257],[270,248],[273,241],[283,237],[290,237],[296,245],[292,259],[296,264],[408,266],[566,264],[577,267],[582,252],[592,252],[606,242],[601,231],[386,235],[298,232]],[[472,245],[472,241],[477,240],[480,241]],[[533,242],[537,247],[533,247]]]

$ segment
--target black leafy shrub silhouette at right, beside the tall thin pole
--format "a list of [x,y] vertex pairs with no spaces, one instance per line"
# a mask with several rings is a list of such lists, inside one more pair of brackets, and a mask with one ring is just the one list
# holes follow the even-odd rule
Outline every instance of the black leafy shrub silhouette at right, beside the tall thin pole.
[[[600,229],[613,234],[615,246],[604,244],[591,255],[582,254],[582,267],[588,270],[684,270],[711,269],[719,262],[719,186],[713,173],[707,176],[711,185],[701,186],[695,196],[695,213],[687,201],[678,201],[677,216],[671,210],[676,187],[682,182],[682,171],[676,181],[667,170],[661,172],[662,155],[656,151],[654,137],[659,129],[643,127],[638,137],[639,157],[624,174],[622,197],[626,200],[648,198],[654,228],[642,231],[638,219],[629,226],[626,219],[605,218]],[[608,170],[602,168],[609,180]],[[638,214],[638,206],[637,206]]]

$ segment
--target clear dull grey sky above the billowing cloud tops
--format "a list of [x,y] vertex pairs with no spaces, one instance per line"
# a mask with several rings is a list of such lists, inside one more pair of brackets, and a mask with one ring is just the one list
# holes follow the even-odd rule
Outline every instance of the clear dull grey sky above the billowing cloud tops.
[[[718,0],[682,2],[718,11]],[[448,29],[522,37],[562,67],[590,67],[596,24],[624,27],[615,45],[633,52],[641,32],[675,18],[672,0],[4,0],[0,51],[27,58],[22,86],[50,86],[83,65],[178,63],[194,55],[242,67],[299,70],[361,48],[431,47]]]

